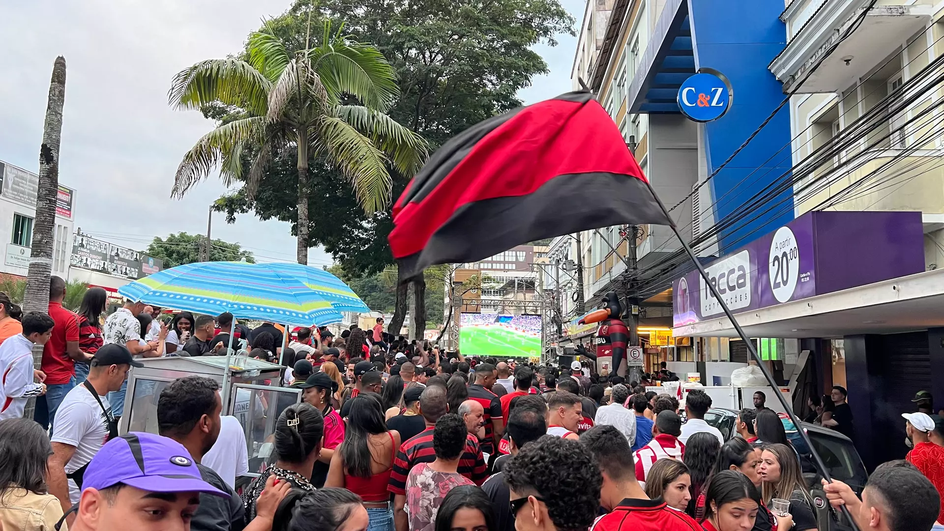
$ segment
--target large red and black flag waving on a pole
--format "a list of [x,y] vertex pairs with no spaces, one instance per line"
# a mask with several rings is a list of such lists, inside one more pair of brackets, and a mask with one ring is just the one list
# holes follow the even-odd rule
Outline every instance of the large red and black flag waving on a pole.
[[406,277],[614,225],[669,224],[613,119],[587,91],[506,112],[439,148],[394,205]]

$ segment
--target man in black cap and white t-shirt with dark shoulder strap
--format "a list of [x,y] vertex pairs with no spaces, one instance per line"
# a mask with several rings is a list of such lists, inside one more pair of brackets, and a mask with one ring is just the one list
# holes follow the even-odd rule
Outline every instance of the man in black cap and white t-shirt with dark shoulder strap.
[[89,462],[110,438],[118,437],[108,393],[121,388],[132,366],[143,367],[125,347],[114,343],[98,349],[89,365],[88,379],[65,395],[56,413],[46,482],[63,512],[78,503]]

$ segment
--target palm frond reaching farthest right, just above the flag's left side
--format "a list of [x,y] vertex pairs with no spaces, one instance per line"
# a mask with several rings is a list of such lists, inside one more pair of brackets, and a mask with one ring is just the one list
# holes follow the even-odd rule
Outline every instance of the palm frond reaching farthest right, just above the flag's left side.
[[338,116],[378,146],[404,177],[413,177],[428,155],[422,136],[380,111],[360,105],[341,105]]

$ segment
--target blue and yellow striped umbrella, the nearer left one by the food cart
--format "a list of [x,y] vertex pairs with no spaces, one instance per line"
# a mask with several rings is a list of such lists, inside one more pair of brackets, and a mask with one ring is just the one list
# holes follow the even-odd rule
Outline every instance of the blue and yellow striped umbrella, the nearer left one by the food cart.
[[341,313],[311,287],[271,264],[200,262],[164,269],[118,288],[131,300],[216,316],[296,326],[341,322]]

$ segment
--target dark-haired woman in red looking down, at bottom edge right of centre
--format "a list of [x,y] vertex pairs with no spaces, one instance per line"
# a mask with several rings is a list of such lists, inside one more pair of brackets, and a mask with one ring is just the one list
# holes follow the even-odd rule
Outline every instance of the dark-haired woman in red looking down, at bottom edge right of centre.
[[705,531],[750,531],[760,511],[761,496],[748,476],[719,471],[705,495]]

